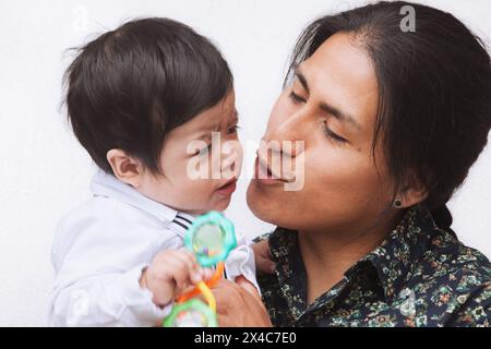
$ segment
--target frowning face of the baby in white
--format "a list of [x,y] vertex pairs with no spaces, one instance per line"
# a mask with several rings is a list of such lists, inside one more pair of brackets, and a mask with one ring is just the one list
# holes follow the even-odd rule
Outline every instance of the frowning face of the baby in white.
[[216,106],[172,130],[160,156],[164,176],[145,172],[139,191],[191,214],[227,208],[242,166],[235,101],[231,91]]

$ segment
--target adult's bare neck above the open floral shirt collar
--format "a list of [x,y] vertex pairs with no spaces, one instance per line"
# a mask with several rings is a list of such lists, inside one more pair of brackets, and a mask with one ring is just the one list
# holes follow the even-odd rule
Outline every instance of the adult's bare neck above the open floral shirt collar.
[[360,221],[350,227],[300,230],[300,253],[307,272],[308,303],[330,290],[360,258],[373,251],[400,220],[402,214]]

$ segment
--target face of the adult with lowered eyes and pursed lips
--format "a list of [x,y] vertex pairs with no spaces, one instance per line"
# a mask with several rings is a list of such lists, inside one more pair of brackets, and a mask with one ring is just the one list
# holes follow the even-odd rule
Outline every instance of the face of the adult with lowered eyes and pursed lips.
[[302,152],[291,153],[304,157],[304,185],[286,191],[283,181],[253,179],[248,204],[261,219],[291,229],[344,231],[373,221],[368,217],[388,207],[393,183],[382,142],[376,167],[371,153],[378,82],[370,58],[355,43],[348,34],[328,38],[277,99],[263,141],[304,141]]

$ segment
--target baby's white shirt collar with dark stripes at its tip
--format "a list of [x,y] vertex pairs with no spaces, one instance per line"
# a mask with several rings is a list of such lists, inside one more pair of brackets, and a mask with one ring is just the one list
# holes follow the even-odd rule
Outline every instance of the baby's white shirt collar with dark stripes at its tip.
[[115,176],[98,169],[91,182],[91,191],[95,196],[112,197],[128,205],[136,207],[157,218],[165,225],[169,225],[176,232],[183,236],[192,224],[194,216],[179,212],[154,201],[130,184],[121,182]]

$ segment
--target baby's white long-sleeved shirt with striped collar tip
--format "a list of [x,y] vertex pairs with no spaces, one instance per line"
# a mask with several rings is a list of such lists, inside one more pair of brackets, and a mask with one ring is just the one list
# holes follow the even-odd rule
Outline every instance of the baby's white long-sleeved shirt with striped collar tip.
[[[181,249],[194,218],[153,201],[103,170],[93,197],[58,225],[51,251],[56,272],[49,304],[52,326],[156,326],[159,308],[140,287],[142,270],[161,250]],[[227,278],[243,275],[259,290],[249,241],[237,233],[225,262]]]

